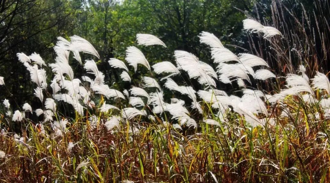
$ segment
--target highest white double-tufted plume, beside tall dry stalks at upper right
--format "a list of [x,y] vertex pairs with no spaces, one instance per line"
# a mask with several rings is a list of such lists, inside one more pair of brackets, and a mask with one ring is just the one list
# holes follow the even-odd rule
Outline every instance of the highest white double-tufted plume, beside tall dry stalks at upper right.
[[262,32],[264,38],[272,37],[274,35],[281,35],[281,32],[274,27],[263,26],[259,22],[251,19],[243,20],[243,29],[251,30],[252,33]]

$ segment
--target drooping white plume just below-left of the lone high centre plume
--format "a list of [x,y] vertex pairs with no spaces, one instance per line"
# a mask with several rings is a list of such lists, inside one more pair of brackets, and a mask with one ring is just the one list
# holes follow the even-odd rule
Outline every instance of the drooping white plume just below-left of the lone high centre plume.
[[134,46],[127,47],[125,59],[129,65],[133,66],[135,72],[138,68],[138,64],[142,64],[150,70],[150,65],[148,60],[143,55],[143,53]]

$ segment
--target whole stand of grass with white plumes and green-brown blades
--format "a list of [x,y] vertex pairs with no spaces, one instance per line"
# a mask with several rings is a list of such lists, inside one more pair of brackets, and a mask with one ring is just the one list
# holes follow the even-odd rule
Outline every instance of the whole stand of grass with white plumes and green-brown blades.
[[[285,39],[273,27],[243,23],[266,41]],[[47,66],[38,54],[18,53],[40,107],[13,111],[15,103],[2,101],[0,181],[330,182],[327,76],[310,79],[301,65],[281,77],[267,60],[236,56],[211,33],[199,37],[215,68],[184,51],[150,67],[134,46],[126,62],[110,59],[128,89],[82,60],[79,52],[99,55],[79,36],[59,37]],[[137,42],[167,49],[149,34]],[[70,67],[76,61],[82,78]],[[226,84],[230,93],[221,90]]]

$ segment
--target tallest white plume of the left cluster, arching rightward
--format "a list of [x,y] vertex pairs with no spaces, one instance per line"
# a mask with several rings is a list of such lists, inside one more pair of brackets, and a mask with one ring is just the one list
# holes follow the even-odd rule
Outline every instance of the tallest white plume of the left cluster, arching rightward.
[[[74,55],[76,59],[79,61],[80,64],[82,64],[79,53],[78,55],[75,54],[76,51],[88,53],[91,55],[94,55],[95,57],[100,59],[99,54],[95,50],[92,44],[90,44],[86,39],[79,37],[78,35],[73,35],[70,37],[70,50],[74,52]],[[79,58],[78,58],[79,56]]]

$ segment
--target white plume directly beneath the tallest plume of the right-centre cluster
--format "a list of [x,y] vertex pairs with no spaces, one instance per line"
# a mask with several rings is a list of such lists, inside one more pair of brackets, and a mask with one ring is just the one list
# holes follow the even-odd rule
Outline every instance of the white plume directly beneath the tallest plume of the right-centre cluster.
[[237,61],[239,58],[227,48],[211,48],[211,55],[214,63],[224,63],[228,61]]

